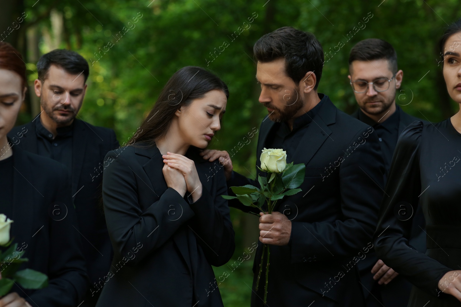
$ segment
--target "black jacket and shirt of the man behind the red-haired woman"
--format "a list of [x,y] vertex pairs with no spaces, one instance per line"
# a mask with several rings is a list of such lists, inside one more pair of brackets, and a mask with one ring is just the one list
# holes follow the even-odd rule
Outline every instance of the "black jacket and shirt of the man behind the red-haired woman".
[[[96,127],[87,122],[74,119],[71,126],[58,128],[55,140],[50,141],[45,128],[40,129],[39,118],[12,129],[8,136],[16,139],[17,145],[27,151],[43,154],[69,163],[71,156],[71,196],[75,204],[79,230],[82,236],[83,255],[92,286],[99,278],[104,278],[110,269],[113,251],[107,232],[101,199],[102,171],[104,156],[108,151],[118,148],[118,141],[112,129]],[[42,126],[43,127],[43,126]],[[25,131],[25,132],[24,132]],[[41,131],[41,132],[40,132]],[[48,139],[46,139],[48,138]],[[55,141],[58,146],[54,146]],[[51,151],[48,149],[51,148]],[[69,150],[71,153],[69,154]],[[49,169],[48,172],[53,172]],[[94,307],[100,291],[88,291],[79,307]],[[80,302],[79,302],[80,303]],[[77,304],[78,305],[78,304]]]

